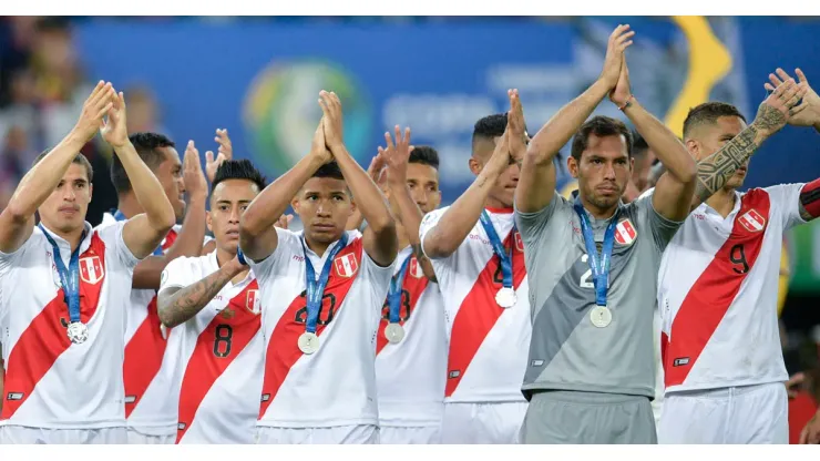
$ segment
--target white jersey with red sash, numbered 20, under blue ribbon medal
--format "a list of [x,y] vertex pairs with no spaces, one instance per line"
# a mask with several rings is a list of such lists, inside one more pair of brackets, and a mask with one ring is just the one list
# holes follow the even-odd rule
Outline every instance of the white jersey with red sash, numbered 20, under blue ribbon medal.
[[298,346],[308,322],[305,254],[320,277],[334,243],[319,256],[301,233],[276,228],[278,246],[249,262],[262,293],[265,377],[258,426],[327,428],[377,424],[376,341],[393,265],[380,267],[362,248],[361,233],[347,232],[321,295],[315,335],[318,349]]

